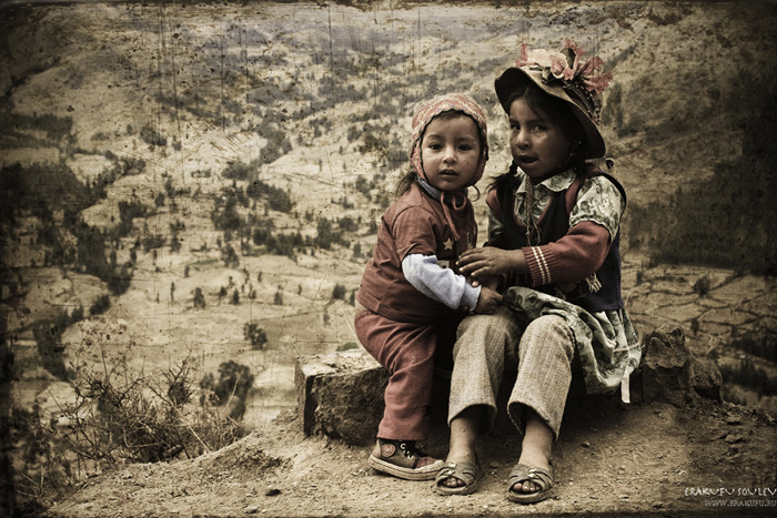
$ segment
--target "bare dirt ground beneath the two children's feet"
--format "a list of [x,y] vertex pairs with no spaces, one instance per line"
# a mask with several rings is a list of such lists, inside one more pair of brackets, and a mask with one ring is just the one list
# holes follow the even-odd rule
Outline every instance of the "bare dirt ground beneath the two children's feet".
[[[444,456],[435,419],[430,454]],[[481,440],[484,477],[470,496],[442,497],[431,481],[373,471],[370,446],[305,437],[282,413],[242,440],[191,460],[133,465],[93,477],[48,512],[59,517],[175,516],[774,516],[777,427],[731,404],[626,408],[587,399],[572,407],[556,445],[556,492],[522,506],[505,496],[518,437],[505,415]]]

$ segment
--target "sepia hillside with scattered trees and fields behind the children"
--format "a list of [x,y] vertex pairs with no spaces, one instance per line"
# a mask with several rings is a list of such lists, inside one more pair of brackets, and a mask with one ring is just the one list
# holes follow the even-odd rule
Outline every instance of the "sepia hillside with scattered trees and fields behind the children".
[[114,378],[142,379],[149,400],[174,400],[178,382],[241,433],[294,407],[299,355],[360,347],[353,295],[407,167],[413,105],[456,91],[486,110],[482,243],[490,177],[509,164],[493,80],[522,42],[572,38],[614,72],[604,134],[628,193],[627,311],[640,334],[682,326],[726,400],[774,413],[776,14],[0,2],[8,412],[70,423]]

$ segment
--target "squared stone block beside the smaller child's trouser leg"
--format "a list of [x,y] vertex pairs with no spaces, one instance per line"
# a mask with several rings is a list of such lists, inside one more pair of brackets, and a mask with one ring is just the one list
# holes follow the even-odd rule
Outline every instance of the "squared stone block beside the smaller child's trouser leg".
[[306,435],[324,434],[357,446],[375,440],[389,373],[366,352],[300,356],[294,378]]

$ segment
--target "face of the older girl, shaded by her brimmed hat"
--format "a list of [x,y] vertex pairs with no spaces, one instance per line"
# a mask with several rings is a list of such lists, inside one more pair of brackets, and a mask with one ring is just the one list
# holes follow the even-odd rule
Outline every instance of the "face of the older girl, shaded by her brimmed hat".
[[509,151],[528,177],[545,180],[559,173],[569,161],[573,139],[568,130],[543,111],[529,108],[525,99],[509,106]]

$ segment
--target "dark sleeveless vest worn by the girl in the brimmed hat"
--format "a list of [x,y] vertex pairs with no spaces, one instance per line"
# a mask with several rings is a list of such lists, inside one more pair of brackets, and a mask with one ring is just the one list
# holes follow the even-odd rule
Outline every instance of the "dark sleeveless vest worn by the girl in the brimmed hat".
[[[586,173],[577,176],[572,185],[566,190],[557,193],[551,200],[551,205],[545,211],[545,215],[537,225],[539,227],[541,242],[539,245],[545,245],[558,241],[569,231],[569,214],[577,200],[577,192],[583,182],[589,177],[604,176],[609,180],[620,192],[624,204],[626,203],[626,192],[623,185],[612,175],[602,170],[589,165]],[[511,180],[514,180],[513,176]],[[513,182],[504,182],[497,191],[500,205],[502,206],[502,222],[504,225],[505,245],[509,250],[518,250],[528,246],[526,241],[526,226],[518,225],[515,221],[513,204],[514,192]],[[564,290],[567,302],[583,307],[588,312],[614,311],[624,306],[623,297],[620,296],[620,232],[615,235],[609,252],[604,260],[604,263],[596,271],[596,277],[602,284],[601,290],[592,292],[585,281],[569,291]],[[558,295],[559,288],[556,285],[541,286],[542,292],[552,295]]]

